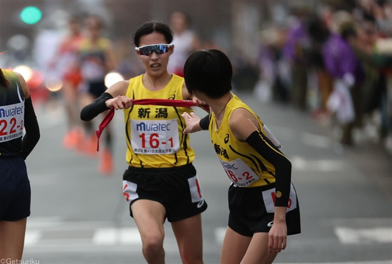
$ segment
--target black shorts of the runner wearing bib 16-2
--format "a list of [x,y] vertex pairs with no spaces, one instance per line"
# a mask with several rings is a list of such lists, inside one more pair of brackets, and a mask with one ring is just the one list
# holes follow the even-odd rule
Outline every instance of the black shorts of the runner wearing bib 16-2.
[[[229,187],[228,226],[240,235],[252,237],[254,233],[268,233],[275,211],[274,184],[260,187]],[[291,185],[286,213],[287,235],[301,233],[298,198]]]

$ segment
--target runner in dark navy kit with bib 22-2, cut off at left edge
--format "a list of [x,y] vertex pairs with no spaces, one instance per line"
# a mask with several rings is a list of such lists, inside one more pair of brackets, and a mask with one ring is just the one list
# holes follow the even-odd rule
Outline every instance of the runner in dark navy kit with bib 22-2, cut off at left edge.
[[0,260],[22,259],[31,198],[25,159],[39,138],[25,79],[0,69]]

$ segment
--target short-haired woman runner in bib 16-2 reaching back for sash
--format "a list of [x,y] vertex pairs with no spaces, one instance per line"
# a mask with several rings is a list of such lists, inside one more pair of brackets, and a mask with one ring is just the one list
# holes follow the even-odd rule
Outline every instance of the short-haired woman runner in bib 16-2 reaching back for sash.
[[217,49],[192,53],[184,66],[190,94],[212,113],[200,120],[183,113],[184,135],[208,129],[219,161],[232,181],[229,220],[221,264],[270,264],[286,248],[287,235],[300,233],[299,205],[291,183],[291,162],[258,116],[230,91],[232,66]]

